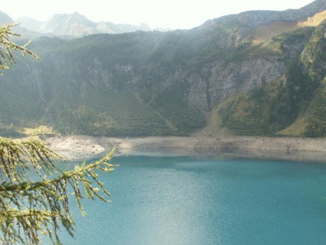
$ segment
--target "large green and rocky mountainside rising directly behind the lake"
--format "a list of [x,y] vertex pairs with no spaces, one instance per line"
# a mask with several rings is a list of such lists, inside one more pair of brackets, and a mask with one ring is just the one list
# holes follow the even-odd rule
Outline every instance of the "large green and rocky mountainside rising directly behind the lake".
[[325,10],[317,0],[191,30],[40,38],[30,47],[42,61],[0,78],[0,130],[324,136]]

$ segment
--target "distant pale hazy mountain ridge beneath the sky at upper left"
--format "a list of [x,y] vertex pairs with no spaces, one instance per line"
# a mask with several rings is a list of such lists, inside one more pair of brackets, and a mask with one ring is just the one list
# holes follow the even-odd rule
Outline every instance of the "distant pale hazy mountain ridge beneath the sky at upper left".
[[75,12],[73,14],[55,14],[45,22],[28,17],[20,17],[16,20],[25,29],[51,35],[83,37],[99,33],[126,33],[134,31],[151,31],[147,24],[138,26],[131,24],[115,24],[112,22],[93,22],[86,16]]

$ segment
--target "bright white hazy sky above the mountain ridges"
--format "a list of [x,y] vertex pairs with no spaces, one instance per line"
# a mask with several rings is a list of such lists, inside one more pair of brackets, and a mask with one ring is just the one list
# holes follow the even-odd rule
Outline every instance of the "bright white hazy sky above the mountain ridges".
[[[4,1],[2,1],[4,2]],[[285,10],[303,7],[313,0],[9,0],[0,10],[19,16],[46,20],[55,13],[86,15],[93,21],[148,23],[151,28],[189,29],[207,19],[247,10]]]

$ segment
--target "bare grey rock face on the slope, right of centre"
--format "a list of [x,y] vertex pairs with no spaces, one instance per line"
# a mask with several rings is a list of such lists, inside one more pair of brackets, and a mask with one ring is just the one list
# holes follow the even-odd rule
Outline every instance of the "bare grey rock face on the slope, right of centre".
[[[277,56],[270,59],[248,59],[240,62],[215,62],[210,68],[211,76],[205,79],[191,78],[188,102],[202,109],[210,110],[211,105],[223,102],[231,94],[250,89],[283,75],[286,65]],[[209,105],[211,104],[211,105]]]

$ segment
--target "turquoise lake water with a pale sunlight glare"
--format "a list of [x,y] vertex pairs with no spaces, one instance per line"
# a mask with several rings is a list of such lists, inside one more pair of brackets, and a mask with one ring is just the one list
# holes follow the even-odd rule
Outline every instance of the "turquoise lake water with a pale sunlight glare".
[[326,164],[117,157],[65,244],[326,244]]

